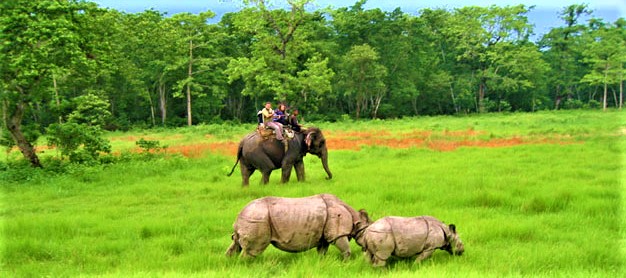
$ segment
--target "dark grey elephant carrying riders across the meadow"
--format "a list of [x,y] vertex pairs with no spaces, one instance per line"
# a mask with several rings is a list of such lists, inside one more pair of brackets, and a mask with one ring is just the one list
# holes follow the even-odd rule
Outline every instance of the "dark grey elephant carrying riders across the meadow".
[[326,139],[319,128],[310,127],[303,132],[296,132],[294,137],[288,140],[288,149],[282,142],[269,134],[264,136],[259,131],[246,135],[237,149],[237,161],[228,176],[232,175],[241,162],[242,185],[248,186],[250,176],[256,169],[263,175],[261,183],[267,184],[270,174],[275,169],[282,169],[281,182],[286,183],[291,176],[291,169],[295,167],[298,181],[304,181],[304,161],[307,153],[316,155],[322,160],[322,166],[326,171],[327,179],[332,179],[333,174],[328,168],[328,149]]

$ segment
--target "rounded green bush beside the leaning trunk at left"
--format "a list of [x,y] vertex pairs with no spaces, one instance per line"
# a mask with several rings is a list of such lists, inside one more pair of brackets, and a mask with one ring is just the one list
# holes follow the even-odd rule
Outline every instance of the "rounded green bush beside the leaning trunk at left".
[[108,153],[111,145],[102,138],[102,130],[97,126],[78,123],[52,124],[46,129],[48,146],[59,149],[61,156],[69,157],[76,163],[97,161],[100,152]]

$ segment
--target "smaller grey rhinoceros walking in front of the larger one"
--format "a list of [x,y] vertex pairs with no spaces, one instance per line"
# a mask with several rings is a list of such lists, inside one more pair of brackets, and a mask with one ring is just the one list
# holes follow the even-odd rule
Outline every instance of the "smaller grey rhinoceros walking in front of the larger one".
[[374,266],[384,266],[391,256],[417,255],[415,262],[420,262],[435,249],[459,256],[464,251],[454,224],[447,226],[431,216],[381,218],[365,229],[357,243]]

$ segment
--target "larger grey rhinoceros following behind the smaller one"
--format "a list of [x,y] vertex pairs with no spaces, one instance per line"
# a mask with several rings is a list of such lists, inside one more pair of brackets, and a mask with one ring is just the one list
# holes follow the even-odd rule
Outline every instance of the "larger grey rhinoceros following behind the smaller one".
[[287,252],[317,247],[325,254],[335,244],[350,257],[351,238],[370,224],[365,210],[356,211],[331,194],[304,198],[264,197],[246,205],[233,224],[233,243],[227,256],[240,253],[255,257],[271,243]]

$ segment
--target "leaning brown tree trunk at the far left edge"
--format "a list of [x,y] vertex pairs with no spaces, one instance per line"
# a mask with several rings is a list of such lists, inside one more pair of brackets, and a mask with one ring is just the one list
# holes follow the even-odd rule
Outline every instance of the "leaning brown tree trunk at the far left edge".
[[39,157],[37,157],[35,148],[30,142],[28,142],[21,130],[25,104],[21,102],[21,100],[18,100],[14,107],[15,110],[13,110],[12,113],[6,113],[6,111],[8,110],[8,106],[8,101],[4,101],[3,109],[5,111],[5,116],[3,120],[7,126],[7,129],[9,130],[9,133],[11,134],[11,137],[15,141],[17,147],[20,149],[20,152],[22,152],[22,155],[24,155],[24,158],[26,158],[30,162],[31,166],[43,168],[41,166],[41,162],[39,162]]

